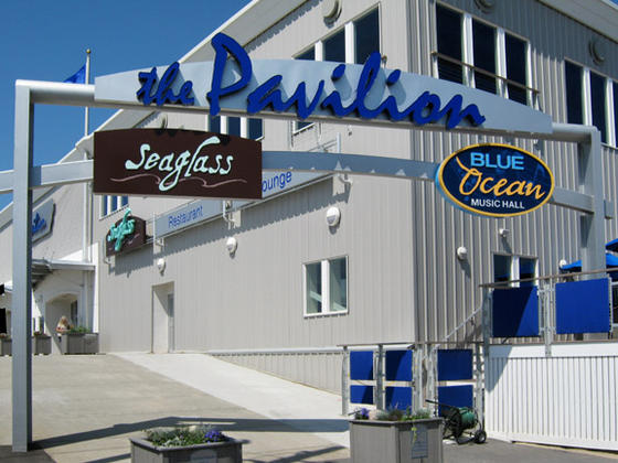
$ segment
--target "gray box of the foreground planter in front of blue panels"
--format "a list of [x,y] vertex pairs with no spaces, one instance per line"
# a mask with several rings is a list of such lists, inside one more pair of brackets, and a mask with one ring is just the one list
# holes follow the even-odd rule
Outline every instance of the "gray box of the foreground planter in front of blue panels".
[[350,421],[353,463],[443,463],[443,419]]

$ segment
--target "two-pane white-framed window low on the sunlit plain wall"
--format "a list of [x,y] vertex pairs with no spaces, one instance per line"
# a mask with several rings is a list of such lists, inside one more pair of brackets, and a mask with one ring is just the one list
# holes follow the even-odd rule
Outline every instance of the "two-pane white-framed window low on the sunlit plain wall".
[[306,263],[305,316],[348,312],[348,258]]

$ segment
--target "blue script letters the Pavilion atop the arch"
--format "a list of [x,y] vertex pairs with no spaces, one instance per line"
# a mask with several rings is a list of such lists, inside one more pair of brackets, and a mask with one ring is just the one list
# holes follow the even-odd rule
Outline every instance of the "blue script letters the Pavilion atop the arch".
[[[211,90],[206,94],[206,98],[210,101],[211,116],[216,116],[221,111],[222,98],[243,90],[251,83],[253,78],[253,65],[245,50],[234,39],[225,34],[216,34],[212,39],[212,45],[215,50],[215,58],[212,86]],[[238,65],[238,76],[234,82],[224,86],[223,76],[228,58],[236,61]],[[151,101],[156,101],[157,105],[163,105],[166,101],[175,103],[179,99],[185,105],[193,104],[193,98],[189,97],[192,86],[190,80],[184,83],[179,95],[174,95],[170,89],[174,78],[179,74],[178,68],[179,64],[173,63],[166,71],[153,95],[151,93],[157,80],[157,68],[153,67],[150,73],[139,73],[142,87],[137,93],[138,98],[141,98],[145,105],[149,105]],[[253,115],[268,108],[276,112],[281,112],[296,107],[297,117],[299,119],[306,119],[313,114],[319,105],[322,109],[330,109],[330,111],[338,117],[355,114],[363,119],[373,119],[380,115],[384,115],[393,121],[401,121],[408,118],[418,126],[434,123],[445,119],[447,129],[457,127],[465,119],[472,126],[480,126],[486,120],[477,105],[464,107],[464,98],[461,95],[452,96],[452,98],[443,106],[439,96],[430,91],[420,94],[412,105],[403,110],[399,110],[396,98],[393,95],[386,97],[377,107],[367,108],[365,99],[374,87],[380,72],[381,55],[374,52],[363,65],[356,84],[355,97],[348,106],[343,106],[341,95],[338,90],[324,95],[326,83],[323,79],[319,80],[318,88],[313,95],[307,95],[307,83],[301,82],[297,85],[291,96],[285,99],[283,90],[279,87],[283,82],[283,76],[274,75],[248,94],[246,110],[247,114]],[[344,74],[345,64],[340,64],[331,73],[330,79],[332,83],[337,83]],[[401,75],[401,71],[392,71],[386,77],[386,86],[396,84]]]

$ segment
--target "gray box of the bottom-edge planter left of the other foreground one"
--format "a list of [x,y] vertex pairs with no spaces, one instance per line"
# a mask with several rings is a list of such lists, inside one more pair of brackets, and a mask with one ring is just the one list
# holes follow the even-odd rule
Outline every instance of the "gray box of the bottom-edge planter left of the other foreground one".
[[243,463],[243,442],[231,440],[201,445],[154,446],[143,439],[130,439],[134,463]]

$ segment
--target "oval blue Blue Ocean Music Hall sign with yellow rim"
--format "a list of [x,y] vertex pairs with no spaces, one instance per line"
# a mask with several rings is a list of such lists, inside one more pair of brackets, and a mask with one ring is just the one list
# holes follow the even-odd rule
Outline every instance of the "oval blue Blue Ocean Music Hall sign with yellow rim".
[[526,214],[554,193],[547,164],[528,151],[499,143],[454,152],[438,168],[436,183],[458,207],[491,217]]

